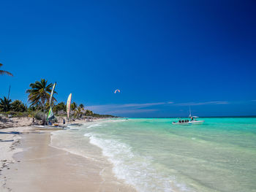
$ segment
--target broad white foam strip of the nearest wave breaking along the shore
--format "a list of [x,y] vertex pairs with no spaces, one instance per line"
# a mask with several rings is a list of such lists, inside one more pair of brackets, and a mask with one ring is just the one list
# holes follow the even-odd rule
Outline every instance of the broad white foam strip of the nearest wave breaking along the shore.
[[114,139],[102,139],[99,134],[87,133],[91,144],[102,149],[103,155],[113,164],[113,172],[118,179],[135,186],[138,191],[189,191],[185,185],[176,183],[175,177],[163,175],[152,166],[150,157],[132,152],[132,148]]

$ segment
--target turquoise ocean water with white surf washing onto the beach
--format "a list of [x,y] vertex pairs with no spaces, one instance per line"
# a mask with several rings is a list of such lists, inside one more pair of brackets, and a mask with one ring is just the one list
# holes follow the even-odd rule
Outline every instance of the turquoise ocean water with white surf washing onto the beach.
[[113,164],[115,177],[137,191],[256,191],[256,118],[201,119],[191,126],[171,118],[101,120],[55,131],[51,145],[102,172]]

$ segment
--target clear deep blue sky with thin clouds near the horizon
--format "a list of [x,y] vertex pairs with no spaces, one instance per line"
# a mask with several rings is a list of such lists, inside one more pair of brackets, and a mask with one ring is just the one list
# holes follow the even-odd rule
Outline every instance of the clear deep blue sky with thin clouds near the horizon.
[[[1,1],[0,97],[129,117],[256,115],[255,1]],[[116,88],[121,93],[114,94]]]

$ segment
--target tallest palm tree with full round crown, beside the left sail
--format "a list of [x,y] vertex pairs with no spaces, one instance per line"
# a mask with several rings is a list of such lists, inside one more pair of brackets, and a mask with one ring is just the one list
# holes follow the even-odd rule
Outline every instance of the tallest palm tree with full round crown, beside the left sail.
[[[26,93],[29,93],[29,102],[31,106],[42,106],[44,111],[44,123],[45,123],[45,102],[50,100],[50,92],[53,88],[53,83],[47,85],[47,80],[41,79],[29,85],[31,89],[28,89]],[[56,93],[56,91],[54,91]],[[53,97],[53,101],[56,99]]]

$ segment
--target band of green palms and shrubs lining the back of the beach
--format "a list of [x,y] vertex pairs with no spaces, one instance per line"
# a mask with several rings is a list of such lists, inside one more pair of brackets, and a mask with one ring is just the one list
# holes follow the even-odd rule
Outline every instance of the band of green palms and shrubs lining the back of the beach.
[[[53,84],[49,83],[47,80],[41,79],[31,83],[31,89],[26,90],[26,93],[29,93],[29,103],[30,106],[27,107],[20,100],[12,101],[7,99],[5,96],[3,99],[0,99],[0,113],[4,116],[12,115],[12,117],[34,117],[37,120],[42,120],[45,123],[45,111],[49,110],[49,99],[50,93],[53,88]],[[56,91],[54,91],[56,93]],[[54,102],[55,101],[55,102]],[[67,106],[61,101],[56,102],[56,99],[53,97],[53,112],[55,115],[67,116]],[[95,118],[114,118],[113,115],[99,115],[91,110],[86,110],[84,104],[76,104],[74,101],[70,105],[70,115],[72,119],[83,118],[85,116],[95,117]]]

